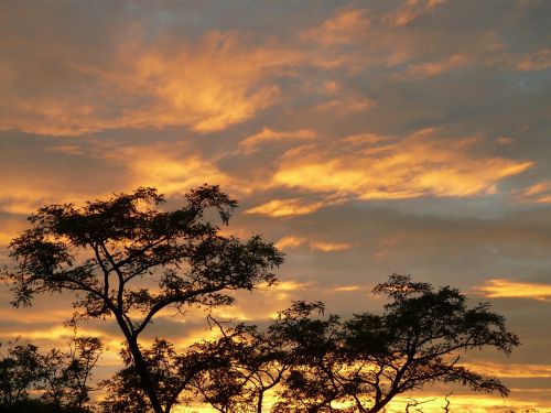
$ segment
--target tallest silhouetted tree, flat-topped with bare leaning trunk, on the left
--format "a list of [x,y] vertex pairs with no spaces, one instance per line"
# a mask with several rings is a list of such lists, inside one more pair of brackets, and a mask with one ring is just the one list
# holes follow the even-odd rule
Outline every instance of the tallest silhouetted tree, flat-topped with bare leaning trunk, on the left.
[[[241,242],[222,236],[205,218],[214,210],[227,225],[237,206],[218,186],[192,189],[185,199],[181,209],[161,211],[155,207],[164,197],[141,187],[82,208],[44,206],[10,244],[18,262],[9,272],[13,305],[30,305],[36,294],[73,291],[76,319],[115,317],[155,413],[170,406],[160,401],[140,334],[166,307],[231,304],[231,290],[273,283],[272,270],[283,262],[259,236]],[[156,283],[154,290],[144,286],[148,281]]]

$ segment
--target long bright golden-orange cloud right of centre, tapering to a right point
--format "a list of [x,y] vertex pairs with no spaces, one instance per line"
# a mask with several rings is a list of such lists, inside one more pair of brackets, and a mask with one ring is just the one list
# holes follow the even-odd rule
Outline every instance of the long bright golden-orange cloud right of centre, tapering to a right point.
[[272,185],[360,199],[464,197],[493,194],[499,181],[533,164],[476,156],[476,139],[444,140],[434,134],[428,129],[381,143],[347,144],[345,139],[325,148],[302,145],[284,154]]

